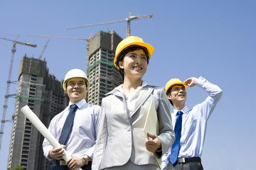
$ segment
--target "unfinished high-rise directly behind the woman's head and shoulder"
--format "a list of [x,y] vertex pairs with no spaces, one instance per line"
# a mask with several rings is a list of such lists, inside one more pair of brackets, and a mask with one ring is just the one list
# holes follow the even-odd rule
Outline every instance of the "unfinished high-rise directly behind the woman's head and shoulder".
[[122,84],[119,70],[114,67],[114,53],[121,40],[114,30],[100,31],[90,40],[88,103],[101,106],[105,94]]

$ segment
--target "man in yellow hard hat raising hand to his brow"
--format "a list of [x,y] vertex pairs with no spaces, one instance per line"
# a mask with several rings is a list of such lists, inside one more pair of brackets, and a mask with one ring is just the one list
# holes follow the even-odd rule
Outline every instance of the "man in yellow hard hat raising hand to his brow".
[[[208,93],[203,103],[192,109],[186,107],[187,86],[198,86]],[[166,95],[174,106],[171,120],[174,125],[176,140],[174,145],[162,157],[164,170],[203,169],[201,154],[206,137],[207,120],[220,100],[223,91],[203,77],[191,77],[182,82],[171,79],[165,86]]]

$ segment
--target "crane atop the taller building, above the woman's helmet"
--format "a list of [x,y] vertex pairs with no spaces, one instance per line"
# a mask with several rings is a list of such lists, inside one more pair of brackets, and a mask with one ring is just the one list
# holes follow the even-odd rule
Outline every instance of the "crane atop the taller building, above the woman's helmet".
[[99,25],[103,25],[103,24],[109,24],[109,23],[121,23],[124,21],[127,21],[127,37],[129,37],[130,33],[131,33],[131,29],[130,29],[130,22],[132,20],[136,20],[136,19],[142,19],[142,18],[152,18],[152,14],[150,14],[149,16],[131,16],[131,13],[129,13],[129,17],[124,19],[124,20],[117,20],[117,21],[109,21],[109,22],[105,22],[105,23],[92,23],[92,24],[86,24],[83,26],[74,26],[74,27],[69,27],[66,28],[68,29],[73,29],[73,28],[82,28],[82,27],[88,27],[88,26],[99,26]]

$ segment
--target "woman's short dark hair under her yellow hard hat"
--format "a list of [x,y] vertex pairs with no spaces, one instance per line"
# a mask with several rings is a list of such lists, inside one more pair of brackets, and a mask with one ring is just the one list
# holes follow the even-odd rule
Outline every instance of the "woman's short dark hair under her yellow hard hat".
[[124,81],[124,69],[121,69],[119,67],[119,62],[122,62],[124,60],[124,56],[127,55],[128,52],[132,52],[135,50],[143,50],[146,55],[147,64],[149,64],[149,52],[146,50],[145,47],[139,46],[139,45],[131,45],[129,47],[124,48],[122,52],[117,56],[117,62],[115,63],[116,66],[119,68],[119,74],[122,77],[122,80]]

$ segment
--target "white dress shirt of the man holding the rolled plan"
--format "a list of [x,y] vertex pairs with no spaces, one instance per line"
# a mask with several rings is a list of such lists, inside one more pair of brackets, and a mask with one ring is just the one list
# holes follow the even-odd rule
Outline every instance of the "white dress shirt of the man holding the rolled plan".
[[[55,115],[50,121],[48,130],[56,140],[60,138],[71,104],[69,103],[64,111]],[[75,112],[73,129],[65,149],[72,157],[81,157],[82,154],[87,154],[90,158],[93,158],[97,128],[100,122],[100,106],[86,103],[85,99],[75,104],[78,106],[78,110]],[[49,159],[50,149],[53,149],[52,145],[46,139],[43,140],[43,155],[47,159]]]

